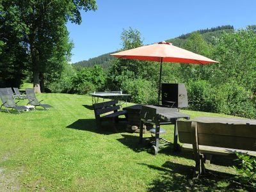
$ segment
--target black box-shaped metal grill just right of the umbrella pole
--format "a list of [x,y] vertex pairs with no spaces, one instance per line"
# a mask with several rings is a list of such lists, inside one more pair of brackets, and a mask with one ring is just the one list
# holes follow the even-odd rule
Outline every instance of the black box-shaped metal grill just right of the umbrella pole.
[[170,108],[188,107],[188,93],[184,83],[162,83],[162,105]]

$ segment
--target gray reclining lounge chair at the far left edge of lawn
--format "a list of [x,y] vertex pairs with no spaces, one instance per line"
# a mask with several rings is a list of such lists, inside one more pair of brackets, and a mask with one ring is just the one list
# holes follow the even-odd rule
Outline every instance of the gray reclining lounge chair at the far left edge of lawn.
[[6,108],[6,111],[8,113],[10,113],[8,108],[16,109],[19,113],[22,110],[27,110],[28,109],[25,106],[18,106],[17,102],[14,102],[13,96],[10,94],[10,90],[8,90],[8,88],[0,88],[0,97],[1,97],[1,100],[3,102],[3,104],[0,107],[0,110],[3,106],[4,106],[4,108]]

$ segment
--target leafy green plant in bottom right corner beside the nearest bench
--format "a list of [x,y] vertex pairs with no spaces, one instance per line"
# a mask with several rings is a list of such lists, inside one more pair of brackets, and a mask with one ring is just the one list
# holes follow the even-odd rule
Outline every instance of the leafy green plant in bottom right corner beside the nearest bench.
[[239,167],[233,166],[239,174],[236,178],[243,184],[250,184],[256,187],[256,159],[248,154],[236,153]]

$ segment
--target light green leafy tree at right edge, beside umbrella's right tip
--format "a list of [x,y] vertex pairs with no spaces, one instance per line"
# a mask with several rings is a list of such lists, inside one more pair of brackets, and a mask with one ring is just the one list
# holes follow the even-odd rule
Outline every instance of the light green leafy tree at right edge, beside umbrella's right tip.
[[252,29],[223,34],[212,55],[221,63],[212,66],[212,83],[237,82],[246,90],[255,90],[256,34]]

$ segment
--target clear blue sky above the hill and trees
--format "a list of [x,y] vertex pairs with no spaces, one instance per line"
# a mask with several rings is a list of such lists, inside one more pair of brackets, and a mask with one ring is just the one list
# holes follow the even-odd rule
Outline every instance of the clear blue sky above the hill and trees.
[[120,49],[120,35],[129,26],[152,44],[198,29],[256,24],[255,0],[97,0],[97,6],[95,12],[81,11],[81,25],[67,24],[72,63]]

